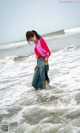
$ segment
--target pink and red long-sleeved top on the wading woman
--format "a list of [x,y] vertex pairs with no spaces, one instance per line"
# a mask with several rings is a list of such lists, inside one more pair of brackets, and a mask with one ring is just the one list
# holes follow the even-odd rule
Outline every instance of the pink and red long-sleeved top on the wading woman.
[[49,57],[51,55],[51,52],[48,48],[47,43],[43,38],[40,38],[36,43],[35,43],[35,48],[34,48],[35,54],[38,58],[40,57]]

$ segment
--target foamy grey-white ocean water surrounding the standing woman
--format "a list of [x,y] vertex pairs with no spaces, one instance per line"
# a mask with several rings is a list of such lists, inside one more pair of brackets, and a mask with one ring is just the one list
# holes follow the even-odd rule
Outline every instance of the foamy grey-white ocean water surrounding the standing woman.
[[34,44],[0,45],[0,132],[80,133],[80,32],[45,37],[51,89],[35,91]]

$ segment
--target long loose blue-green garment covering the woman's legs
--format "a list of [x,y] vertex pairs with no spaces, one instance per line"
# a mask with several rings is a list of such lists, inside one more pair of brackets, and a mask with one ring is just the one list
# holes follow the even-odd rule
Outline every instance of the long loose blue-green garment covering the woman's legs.
[[35,70],[32,86],[35,90],[44,89],[45,81],[50,82],[48,77],[49,64],[46,65],[44,58],[37,59],[37,68]]

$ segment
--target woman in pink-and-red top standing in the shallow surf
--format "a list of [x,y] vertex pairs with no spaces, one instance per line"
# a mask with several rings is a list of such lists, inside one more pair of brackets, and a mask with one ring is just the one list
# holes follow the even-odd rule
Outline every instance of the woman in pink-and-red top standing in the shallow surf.
[[35,67],[32,86],[35,88],[35,90],[49,89],[50,80],[48,77],[48,58],[51,55],[51,52],[45,40],[36,31],[27,31],[26,39],[28,42],[34,42],[34,51],[37,58],[37,66]]

